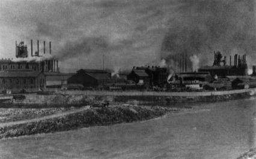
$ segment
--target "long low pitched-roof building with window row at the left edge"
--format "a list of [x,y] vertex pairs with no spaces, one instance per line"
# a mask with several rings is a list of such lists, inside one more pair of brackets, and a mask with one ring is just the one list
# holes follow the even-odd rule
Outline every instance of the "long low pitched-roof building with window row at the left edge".
[[20,70],[0,72],[0,90],[12,92],[41,91],[46,88],[46,77],[43,72]]

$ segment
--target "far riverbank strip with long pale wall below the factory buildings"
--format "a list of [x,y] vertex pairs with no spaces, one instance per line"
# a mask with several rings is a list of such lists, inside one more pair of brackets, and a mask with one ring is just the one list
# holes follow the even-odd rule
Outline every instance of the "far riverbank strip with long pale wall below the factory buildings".
[[83,106],[108,100],[111,103],[131,103],[137,105],[169,105],[177,102],[218,102],[243,99],[254,96],[256,88],[229,91],[202,92],[157,92],[157,91],[57,91],[54,94],[22,94],[17,98],[1,103],[2,108],[20,108],[23,105],[63,107]]

